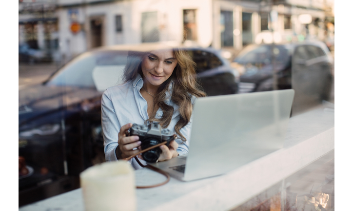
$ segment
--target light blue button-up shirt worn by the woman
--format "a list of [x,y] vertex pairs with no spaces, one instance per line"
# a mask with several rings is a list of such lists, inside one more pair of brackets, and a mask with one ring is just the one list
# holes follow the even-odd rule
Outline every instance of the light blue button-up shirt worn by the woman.
[[[140,89],[142,88],[143,80],[138,74],[133,81],[128,81],[124,84],[119,84],[107,88],[101,100],[102,111],[102,129],[104,138],[104,153],[106,161],[116,161],[116,148],[118,147],[118,133],[120,127],[128,123],[144,124],[148,119],[147,101],[142,97]],[[174,113],[171,123],[167,127],[175,132],[174,127],[179,120],[178,106],[171,101],[173,83],[170,84],[169,90],[166,92],[165,103],[174,107]],[[192,96],[192,103],[195,103],[195,96]],[[163,111],[159,108],[156,113],[156,118],[161,118]],[[179,147],[176,151],[179,155],[189,151],[189,138],[191,132],[191,121],[188,125],[180,129],[181,134],[186,138],[186,142],[182,143],[178,137],[176,143]],[[146,164],[140,160],[142,164]],[[135,159],[129,161],[135,169],[140,169]]]

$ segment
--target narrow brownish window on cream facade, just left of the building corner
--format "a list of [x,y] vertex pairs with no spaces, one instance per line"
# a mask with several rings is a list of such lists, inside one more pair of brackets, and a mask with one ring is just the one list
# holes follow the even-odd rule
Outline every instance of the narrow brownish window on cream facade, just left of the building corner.
[[184,41],[196,41],[196,10],[183,10]]

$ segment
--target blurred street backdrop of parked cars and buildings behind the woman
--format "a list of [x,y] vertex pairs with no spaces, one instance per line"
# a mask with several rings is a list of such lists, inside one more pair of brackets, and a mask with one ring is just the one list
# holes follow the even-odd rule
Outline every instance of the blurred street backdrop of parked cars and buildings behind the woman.
[[19,0],[19,206],[105,161],[102,91],[127,50],[158,43],[188,50],[208,96],[293,88],[292,116],[334,104],[333,0]]

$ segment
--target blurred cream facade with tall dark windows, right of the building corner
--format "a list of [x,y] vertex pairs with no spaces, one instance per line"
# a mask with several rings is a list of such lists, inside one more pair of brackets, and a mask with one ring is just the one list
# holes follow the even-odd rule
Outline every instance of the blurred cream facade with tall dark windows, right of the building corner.
[[215,0],[213,46],[240,50],[250,43],[324,41],[333,10],[332,0]]

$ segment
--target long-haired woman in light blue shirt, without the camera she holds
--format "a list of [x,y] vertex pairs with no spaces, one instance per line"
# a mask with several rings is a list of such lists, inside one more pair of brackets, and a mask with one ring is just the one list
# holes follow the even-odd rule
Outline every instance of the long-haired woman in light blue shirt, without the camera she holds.
[[[169,147],[159,147],[158,161],[187,153],[193,103],[197,97],[206,96],[195,76],[195,63],[185,50],[158,49],[129,55],[124,83],[107,88],[102,95],[106,160],[124,159],[141,150],[138,136],[126,136],[133,123],[158,122],[176,132],[177,139]],[[135,169],[141,168],[135,159],[130,162]]]

